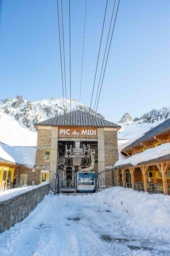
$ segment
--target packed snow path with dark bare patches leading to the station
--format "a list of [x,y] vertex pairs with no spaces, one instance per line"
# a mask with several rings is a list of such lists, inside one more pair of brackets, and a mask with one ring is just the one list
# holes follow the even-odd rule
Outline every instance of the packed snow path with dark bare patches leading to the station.
[[[104,191],[105,192],[105,191]],[[101,192],[103,193],[103,192]],[[146,237],[128,212],[99,196],[45,196],[29,216],[0,234],[3,255],[169,255],[169,241]]]

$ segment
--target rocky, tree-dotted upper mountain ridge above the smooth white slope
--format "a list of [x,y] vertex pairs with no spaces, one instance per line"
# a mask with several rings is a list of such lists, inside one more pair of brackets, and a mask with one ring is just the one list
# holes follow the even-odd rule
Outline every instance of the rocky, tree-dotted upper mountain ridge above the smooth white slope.
[[[2,114],[7,114],[24,125],[25,128],[34,130],[35,128],[33,124],[64,114],[64,107],[65,113],[69,113],[70,100],[64,99],[63,104],[63,98],[52,97],[50,100],[46,99],[30,102],[18,95],[14,99],[8,98],[0,102],[0,119]],[[75,98],[72,98],[71,111],[77,109],[89,113],[88,106],[83,105],[82,103],[79,104]],[[90,114],[95,115],[95,112],[91,110]],[[99,113],[96,113],[96,116],[105,119],[104,116]]]

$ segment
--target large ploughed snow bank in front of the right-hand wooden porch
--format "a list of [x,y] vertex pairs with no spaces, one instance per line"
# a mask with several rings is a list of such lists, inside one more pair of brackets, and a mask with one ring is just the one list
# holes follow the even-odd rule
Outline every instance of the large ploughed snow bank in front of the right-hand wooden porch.
[[140,227],[140,232],[154,236],[170,237],[170,196],[149,194],[131,188],[112,187],[97,193],[97,199],[109,206],[127,212],[126,225]]

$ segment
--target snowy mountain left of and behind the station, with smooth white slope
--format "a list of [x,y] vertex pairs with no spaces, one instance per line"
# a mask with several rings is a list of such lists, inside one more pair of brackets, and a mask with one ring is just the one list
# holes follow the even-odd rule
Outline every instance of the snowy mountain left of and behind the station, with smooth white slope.
[[[71,111],[80,110],[89,113],[89,108],[71,99]],[[14,99],[0,102],[0,141],[10,146],[36,146],[37,133],[34,123],[70,112],[70,100],[52,97],[50,100],[30,102],[18,95]],[[95,114],[92,110],[91,114]],[[99,113],[96,116],[105,119]]]

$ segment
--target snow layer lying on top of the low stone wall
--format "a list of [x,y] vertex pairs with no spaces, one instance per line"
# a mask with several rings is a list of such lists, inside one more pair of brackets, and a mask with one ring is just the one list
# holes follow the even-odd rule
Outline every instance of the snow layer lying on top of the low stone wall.
[[13,188],[13,189],[9,189],[9,190],[5,190],[5,191],[2,191],[0,193],[0,202],[2,201],[6,201],[10,198],[13,198],[15,196],[18,196],[18,195],[21,195],[21,194],[24,194],[28,191],[31,191],[33,189],[36,189],[36,188],[39,188],[39,187],[42,187],[42,186],[45,186],[49,184],[49,181],[46,181],[46,182],[43,182],[39,185],[34,185],[34,186],[22,186],[21,188]]

